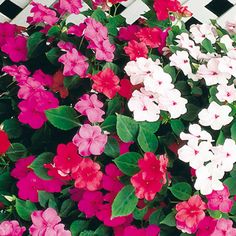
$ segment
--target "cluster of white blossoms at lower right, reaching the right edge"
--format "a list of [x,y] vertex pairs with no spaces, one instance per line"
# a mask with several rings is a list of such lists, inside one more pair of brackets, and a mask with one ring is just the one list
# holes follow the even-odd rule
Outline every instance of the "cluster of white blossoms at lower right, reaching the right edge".
[[181,133],[187,144],[178,150],[179,159],[196,170],[195,189],[201,194],[224,188],[221,179],[233,169],[236,162],[236,144],[226,139],[223,145],[213,146],[212,136],[198,124],[189,126],[189,133]]

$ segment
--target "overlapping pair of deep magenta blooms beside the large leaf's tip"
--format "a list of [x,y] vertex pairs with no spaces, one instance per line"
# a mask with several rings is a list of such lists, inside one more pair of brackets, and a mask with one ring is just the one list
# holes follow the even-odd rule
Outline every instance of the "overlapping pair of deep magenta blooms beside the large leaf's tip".
[[33,129],[39,129],[47,121],[45,110],[58,107],[58,103],[51,92],[34,93],[27,100],[18,104],[21,110],[18,119],[23,124],[29,124]]

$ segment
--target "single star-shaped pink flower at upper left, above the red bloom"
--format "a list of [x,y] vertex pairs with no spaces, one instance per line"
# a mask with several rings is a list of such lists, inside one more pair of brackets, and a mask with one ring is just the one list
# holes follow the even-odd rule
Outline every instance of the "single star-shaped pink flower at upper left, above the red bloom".
[[78,52],[75,48],[67,51],[66,54],[62,55],[58,61],[64,64],[63,75],[72,76],[79,75],[85,77],[88,69],[87,58]]

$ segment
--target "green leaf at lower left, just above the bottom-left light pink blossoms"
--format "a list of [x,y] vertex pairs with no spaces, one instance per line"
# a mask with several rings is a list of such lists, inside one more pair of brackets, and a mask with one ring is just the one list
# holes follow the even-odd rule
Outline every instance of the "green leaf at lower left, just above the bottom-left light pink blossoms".
[[31,201],[22,201],[16,198],[16,212],[17,214],[26,221],[30,221],[30,215],[33,211],[36,211],[36,206]]

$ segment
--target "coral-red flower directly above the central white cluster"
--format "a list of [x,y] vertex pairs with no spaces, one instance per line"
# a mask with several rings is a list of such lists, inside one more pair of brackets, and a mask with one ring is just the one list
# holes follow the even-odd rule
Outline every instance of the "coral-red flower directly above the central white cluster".
[[124,47],[125,53],[130,57],[130,60],[135,60],[138,57],[147,58],[148,49],[146,44],[141,42],[138,43],[135,40],[131,40],[128,46]]

